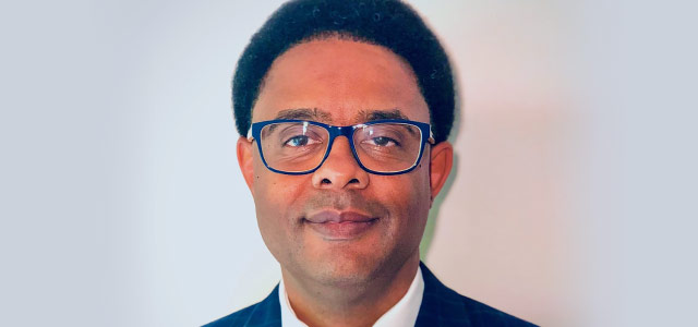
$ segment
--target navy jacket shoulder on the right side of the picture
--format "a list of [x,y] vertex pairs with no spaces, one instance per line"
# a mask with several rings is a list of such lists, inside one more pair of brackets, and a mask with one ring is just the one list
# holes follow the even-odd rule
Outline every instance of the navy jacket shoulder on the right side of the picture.
[[444,286],[424,266],[424,295],[418,326],[535,326],[482,302],[458,294]]

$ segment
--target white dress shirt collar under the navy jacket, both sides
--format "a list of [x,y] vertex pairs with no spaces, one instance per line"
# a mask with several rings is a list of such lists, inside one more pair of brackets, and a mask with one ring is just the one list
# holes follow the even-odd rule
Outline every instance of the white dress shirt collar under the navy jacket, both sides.
[[[383,314],[375,324],[373,324],[373,327],[414,326],[419,307],[422,305],[423,295],[424,278],[422,277],[422,269],[418,267],[417,275],[414,275],[414,279],[407,290],[407,293],[405,293],[402,299],[395,303],[390,310]],[[293,312],[291,307],[291,303],[288,301],[284,278],[281,278],[281,282],[279,283],[279,303],[281,305],[281,327],[308,327],[308,325],[298,319],[296,312]]]

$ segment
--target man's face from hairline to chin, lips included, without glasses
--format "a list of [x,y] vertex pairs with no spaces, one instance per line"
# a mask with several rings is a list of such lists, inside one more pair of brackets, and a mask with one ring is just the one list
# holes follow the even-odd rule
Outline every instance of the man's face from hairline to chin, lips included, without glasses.
[[[430,121],[409,65],[386,48],[329,38],[298,45],[276,59],[252,122],[293,118],[352,125],[395,116]],[[239,142],[267,247],[296,278],[333,284],[394,274],[419,256],[438,191],[430,187],[430,156],[426,146],[409,173],[371,174],[339,136],[320,169],[288,175],[269,171],[256,145]]]

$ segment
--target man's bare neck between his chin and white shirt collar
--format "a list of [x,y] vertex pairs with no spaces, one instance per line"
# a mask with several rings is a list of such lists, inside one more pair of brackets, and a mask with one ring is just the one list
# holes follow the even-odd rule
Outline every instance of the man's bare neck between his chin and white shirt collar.
[[308,326],[372,326],[407,293],[419,267],[419,252],[390,274],[361,284],[321,284],[281,269],[293,312]]

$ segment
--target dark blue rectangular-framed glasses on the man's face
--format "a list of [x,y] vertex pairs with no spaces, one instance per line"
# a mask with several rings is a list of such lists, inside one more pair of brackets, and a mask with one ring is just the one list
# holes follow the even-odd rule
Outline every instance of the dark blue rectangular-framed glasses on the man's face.
[[269,170],[305,174],[317,170],[337,136],[349,140],[359,166],[375,174],[400,174],[414,169],[424,144],[434,144],[428,123],[388,119],[350,126],[281,119],[252,124],[248,138],[256,140],[262,161]]

